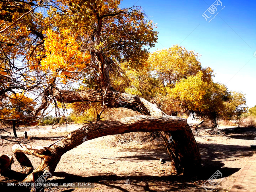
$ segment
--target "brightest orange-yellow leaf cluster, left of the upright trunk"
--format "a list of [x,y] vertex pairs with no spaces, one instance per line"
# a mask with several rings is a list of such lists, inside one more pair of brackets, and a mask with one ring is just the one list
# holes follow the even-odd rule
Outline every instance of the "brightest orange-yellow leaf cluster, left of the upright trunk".
[[69,29],[60,32],[48,29],[44,32],[47,36],[44,40],[45,51],[38,58],[42,58],[40,69],[51,71],[55,76],[65,79],[75,78],[79,72],[90,63],[90,55],[79,50],[80,43],[76,40],[76,34]]

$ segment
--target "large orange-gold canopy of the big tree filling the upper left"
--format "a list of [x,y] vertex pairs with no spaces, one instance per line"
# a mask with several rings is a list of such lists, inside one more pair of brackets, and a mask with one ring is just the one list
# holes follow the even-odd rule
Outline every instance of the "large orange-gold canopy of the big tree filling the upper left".
[[[45,1],[1,2],[2,96],[33,91],[40,103],[42,92],[55,86],[106,88],[106,67],[119,77],[123,62],[142,67],[156,43],[155,24],[140,7],[121,9],[116,0],[48,2],[47,13],[34,9]],[[54,102],[49,92],[43,100]]]

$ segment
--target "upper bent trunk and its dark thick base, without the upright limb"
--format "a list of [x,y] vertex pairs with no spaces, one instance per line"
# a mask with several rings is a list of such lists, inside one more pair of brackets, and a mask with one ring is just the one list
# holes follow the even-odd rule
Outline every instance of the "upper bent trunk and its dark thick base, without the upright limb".
[[[110,91],[107,92],[105,96],[100,90],[69,91],[53,88],[50,96],[52,98],[54,97],[54,99],[59,102],[65,103],[103,102],[104,99],[105,103],[107,103],[106,106],[109,108],[125,107],[144,115],[166,115],[160,108],[157,108],[154,104],[138,95],[121,93],[113,90],[113,88],[110,88]],[[33,112],[34,114],[37,114],[46,106],[47,100],[45,98],[46,94],[42,97],[43,107],[35,110]],[[159,133],[164,140],[166,150],[171,160],[172,169],[176,170],[178,173],[197,173],[201,168],[201,157],[189,125],[186,124],[186,126],[183,127],[183,130],[180,130],[179,132],[176,131],[176,133],[163,130],[159,131]],[[169,141],[170,137],[174,139],[173,142]]]

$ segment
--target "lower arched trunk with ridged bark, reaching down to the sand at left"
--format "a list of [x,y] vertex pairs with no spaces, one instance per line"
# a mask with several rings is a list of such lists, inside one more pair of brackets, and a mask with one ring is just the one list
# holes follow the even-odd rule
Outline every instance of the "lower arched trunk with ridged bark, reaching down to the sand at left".
[[[65,137],[50,144],[49,146],[28,146],[25,144],[15,144],[13,153],[22,166],[24,172],[30,170],[24,181],[32,181],[31,163],[28,159],[24,160],[25,154],[33,155],[42,159],[40,165],[34,170],[44,170],[53,173],[61,156],[84,142],[84,137],[91,140],[106,135],[116,135],[137,131],[173,131],[179,133],[187,126],[187,120],[180,117],[172,116],[148,116],[139,115],[133,117],[125,117],[122,119],[95,121],[69,133]],[[87,140],[86,140],[87,141]],[[20,158],[22,156],[22,158]],[[25,165],[25,162],[27,165]]]

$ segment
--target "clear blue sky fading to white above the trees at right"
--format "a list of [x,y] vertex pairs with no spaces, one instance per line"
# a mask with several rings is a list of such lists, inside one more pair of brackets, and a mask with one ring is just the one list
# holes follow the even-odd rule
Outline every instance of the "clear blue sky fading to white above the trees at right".
[[[256,105],[256,16],[255,0],[221,0],[220,13],[207,9],[215,0],[123,0],[121,7],[141,6],[157,23],[158,43],[150,51],[180,44],[201,56],[203,67],[216,73],[215,82],[246,96],[247,106]],[[215,3],[216,4],[216,3]],[[205,12],[207,11],[207,12]],[[210,9],[211,11],[211,9]],[[212,13],[215,10],[212,9]],[[207,21],[202,16],[207,16]],[[208,22],[210,21],[210,22]],[[256,55],[256,53],[255,53]]]

